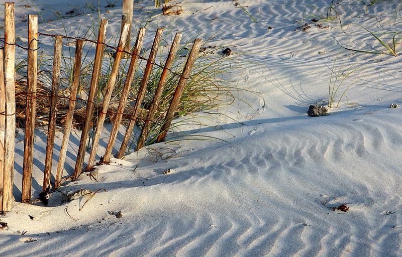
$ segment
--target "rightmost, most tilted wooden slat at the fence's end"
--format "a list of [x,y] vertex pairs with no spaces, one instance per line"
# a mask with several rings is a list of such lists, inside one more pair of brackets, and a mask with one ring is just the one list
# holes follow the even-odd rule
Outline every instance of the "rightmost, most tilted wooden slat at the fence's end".
[[173,119],[174,112],[176,111],[177,106],[179,105],[181,95],[183,94],[183,90],[187,83],[188,76],[190,75],[190,71],[192,69],[192,66],[194,65],[195,58],[197,57],[202,42],[203,41],[201,39],[194,40],[191,52],[184,66],[183,73],[181,74],[179,83],[177,84],[176,91],[174,92],[172,102],[169,106],[169,109],[167,110],[163,125],[160,129],[160,133],[156,141],[157,143],[165,141],[167,132]]

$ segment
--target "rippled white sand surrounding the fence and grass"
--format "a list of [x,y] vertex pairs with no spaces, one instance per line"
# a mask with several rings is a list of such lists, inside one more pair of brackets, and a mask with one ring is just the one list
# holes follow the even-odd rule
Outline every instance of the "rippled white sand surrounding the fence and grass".
[[[118,34],[121,2],[110,13],[101,9],[102,17],[111,19],[108,35]],[[40,24],[40,31],[52,33],[57,33],[61,22],[48,10],[54,8],[63,14],[74,6],[84,6],[80,1],[60,0],[52,7],[44,0],[18,1],[17,20],[27,13],[36,14],[34,8],[22,6],[27,3],[35,5],[45,20],[53,19]],[[236,3],[258,22],[236,8]],[[107,5],[106,1],[101,4]],[[236,121],[226,118],[224,122],[211,115],[219,119],[220,130],[181,127],[187,135],[226,142],[152,145],[124,160],[112,159],[111,165],[97,166],[99,182],[83,174],[65,184],[61,188],[65,192],[80,188],[107,191],[99,191],[81,211],[78,209],[88,196],[60,205],[60,198],[54,194],[50,207],[18,202],[23,143],[17,144],[17,202],[12,211],[0,217],[9,226],[0,230],[0,255],[402,255],[402,108],[389,108],[391,103],[402,105],[400,57],[352,52],[340,46],[384,51],[368,32],[346,23],[359,24],[378,35],[397,32],[402,30],[401,5],[382,1],[367,7],[360,1],[342,1],[335,7],[344,23],[343,31],[339,20],[318,22],[329,26],[325,29],[314,23],[306,31],[296,29],[304,17],[318,14],[312,6],[326,14],[330,4],[311,0],[189,0],[179,3],[184,9],[182,15],[155,17],[147,25],[148,44],[155,28],[172,25],[187,38],[215,35],[209,45],[218,46],[216,54],[226,47],[242,52],[243,67],[232,78],[239,87],[256,92],[241,95],[251,108],[243,102],[221,106],[218,112]],[[135,3],[136,7],[148,5],[134,12],[136,27],[144,15],[160,13],[144,12],[155,11],[149,1]],[[96,13],[92,19],[97,20]],[[62,21],[69,35],[81,35],[78,24],[90,24],[91,16]],[[25,26],[17,24],[21,37],[26,37]],[[391,43],[392,35],[381,38]],[[51,49],[52,42],[46,40],[40,46]],[[311,118],[306,114],[309,105],[328,101],[335,60],[336,71],[344,63],[344,68],[352,64],[360,68],[342,84],[336,102],[357,80],[338,109],[332,108],[328,116]],[[39,128],[36,132],[34,197],[42,190],[43,131]],[[106,126],[97,158],[105,151],[108,131],[110,126]],[[57,136],[55,155],[60,151],[62,134]],[[79,137],[79,132],[71,136],[66,160],[69,175],[73,173]],[[17,142],[22,140],[23,131],[19,130]],[[164,157],[173,155],[162,160],[157,152]],[[166,169],[171,172],[163,175]],[[331,209],[341,204],[348,204],[349,211]],[[118,211],[123,214],[121,219],[110,214]]]

